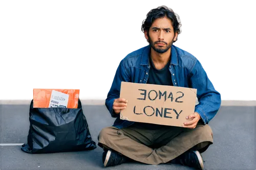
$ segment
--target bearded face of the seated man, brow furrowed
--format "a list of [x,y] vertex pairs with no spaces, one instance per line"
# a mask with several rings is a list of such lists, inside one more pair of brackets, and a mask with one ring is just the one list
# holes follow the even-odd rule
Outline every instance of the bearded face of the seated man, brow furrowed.
[[148,34],[145,33],[150,45],[157,53],[165,53],[176,41],[177,33],[174,33],[172,21],[167,18],[157,18],[153,23]]

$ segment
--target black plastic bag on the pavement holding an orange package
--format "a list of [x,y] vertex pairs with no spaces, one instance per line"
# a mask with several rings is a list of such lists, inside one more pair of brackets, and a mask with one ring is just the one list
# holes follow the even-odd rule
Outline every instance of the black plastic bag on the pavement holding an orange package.
[[21,148],[26,153],[73,152],[96,148],[80,99],[77,109],[33,108],[32,100],[29,121],[28,141]]

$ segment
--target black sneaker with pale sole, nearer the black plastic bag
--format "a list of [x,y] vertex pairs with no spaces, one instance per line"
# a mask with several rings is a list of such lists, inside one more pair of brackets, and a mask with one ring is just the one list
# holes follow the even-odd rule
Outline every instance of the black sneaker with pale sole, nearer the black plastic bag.
[[104,151],[102,154],[102,162],[105,167],[119,165],[130,160],[130,158],[111,150]]

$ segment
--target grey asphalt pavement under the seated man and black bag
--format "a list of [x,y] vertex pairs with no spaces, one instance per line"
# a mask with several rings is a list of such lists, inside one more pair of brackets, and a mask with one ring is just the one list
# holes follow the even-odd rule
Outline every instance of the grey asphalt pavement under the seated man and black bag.
[[[82,108],[92,139],[97,144],[100,130],[113,125],[115,119],[104,105],[82,105]],[[216,117],[209,123],[214,133],[214,144],[202,154],[205,169],[256,169],[255,120],[255,105],[221,106]],[[98,146],[92,151],[28,154],[19,145],[27,142],[28,131],[28,103],[0,104],[0,170],[193,169],[177,164],[147,165],[139,162],[104,167],[102,149]]]

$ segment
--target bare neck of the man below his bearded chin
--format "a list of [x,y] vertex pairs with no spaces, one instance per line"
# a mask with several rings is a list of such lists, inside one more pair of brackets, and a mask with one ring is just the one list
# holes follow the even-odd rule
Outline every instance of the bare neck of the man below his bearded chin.
[[151,58],[154,64],[167,64],[170,59],[170,49],[165,53],[157,53],[153,48],[151,48]]

